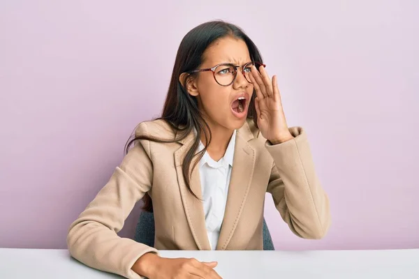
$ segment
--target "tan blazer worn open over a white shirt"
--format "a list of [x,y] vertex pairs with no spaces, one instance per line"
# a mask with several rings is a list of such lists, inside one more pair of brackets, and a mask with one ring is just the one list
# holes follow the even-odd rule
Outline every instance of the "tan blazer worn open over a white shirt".
[[[314,170],[307,135],[290,128],[293,140],[277,145],[265,140],[247,121],[237,130],[226,213],[216,250],[263,250],[263,207],[271,193],[281,218],[294,234],[321,239],[330,225],[328,196]],[[136,135],[173,139],[162,120],[142,122]],[[182,176],[182,160],[194,133],[184,140],[135,144],[104,188],[69,229],[68,249],[95,269],[126,278],[141,278],[131,266],[146,252],[210,250],[203,204],[193,197]],[[195,162],[195,161],[193,161]],[[193,193],[202,197],[199,167],[191,176]],[[154,248],[120,238],[124,220],[148,192],[154,206]]]

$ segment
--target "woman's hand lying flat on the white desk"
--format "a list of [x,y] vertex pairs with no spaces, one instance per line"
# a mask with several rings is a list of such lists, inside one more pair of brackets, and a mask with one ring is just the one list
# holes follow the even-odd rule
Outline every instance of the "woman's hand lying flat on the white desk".
[[133,265],[133,271],[149,279],[200,278],[221,279],[214,271],[217,262],[199,262],[197,259],[166,258],[154,253],[142,255]]

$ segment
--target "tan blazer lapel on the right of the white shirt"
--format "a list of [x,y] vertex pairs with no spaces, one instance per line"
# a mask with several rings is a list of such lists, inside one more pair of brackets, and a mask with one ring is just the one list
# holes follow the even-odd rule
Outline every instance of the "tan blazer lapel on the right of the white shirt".
[[256,151],[248,143],[254,137],[247,122],[237,132],[226,211],[224,213],[223,225],[221,226],[216,250],[226,250],[235,232],[237,221],[240,218],[244,203],[247,199],[247,193],[249,193],[256,162]]

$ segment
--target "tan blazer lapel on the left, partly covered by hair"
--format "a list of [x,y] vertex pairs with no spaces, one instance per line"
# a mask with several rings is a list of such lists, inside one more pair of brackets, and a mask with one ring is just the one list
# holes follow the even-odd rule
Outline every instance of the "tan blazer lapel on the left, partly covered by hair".
[[[182,204],[184,206],[184,211],[188,220],[189,228],[191,229],[191,233],[193,235],[193,239],[195,240],[199,250],[211,250],[210,241],[208,240],[207,235],[207,227],[205,225],[203,203],[199,199],[196,199],[196,197],[193,197],[191,193],[189,193],[182,174],[182,163],[184,156],[186,156],[186,152],[191,148],[194,136],[195,135],[192,132],[184,140],[179,141],[179,143],[183,145],[177,149],[177,151],[175,151],[177,182],[179,185],[180,195],[182,197]],[[197,160],[198,156],[195,156],[192,160],[190,170]],[[196,167],[193,169],[193,172],[191,173],[190,186],[193,193],[202,199],[199,165],[196,165]]]

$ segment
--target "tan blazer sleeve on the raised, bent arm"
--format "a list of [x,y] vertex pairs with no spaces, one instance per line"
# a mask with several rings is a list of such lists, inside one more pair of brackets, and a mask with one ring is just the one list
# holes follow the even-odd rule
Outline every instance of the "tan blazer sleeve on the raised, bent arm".
[[291,231],[304,239],[321,239],[330,227],[328,195],[316,176],[307,135],[289,128],[292,140],[265,147],[274,159],[267,192]]

